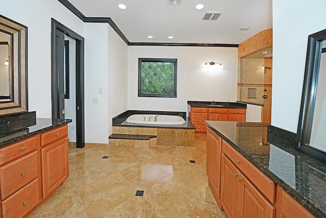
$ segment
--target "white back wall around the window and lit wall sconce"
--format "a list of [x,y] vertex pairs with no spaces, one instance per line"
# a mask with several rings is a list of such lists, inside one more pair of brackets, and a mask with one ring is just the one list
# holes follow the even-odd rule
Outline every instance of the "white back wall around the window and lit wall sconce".
[[[187,101],[236,101],[236,47],[128,46],[128,109],[187,111]],[[138,97],[138,58],[177,58],[177,98]],[[205,62],[220,62],[210,68]]]

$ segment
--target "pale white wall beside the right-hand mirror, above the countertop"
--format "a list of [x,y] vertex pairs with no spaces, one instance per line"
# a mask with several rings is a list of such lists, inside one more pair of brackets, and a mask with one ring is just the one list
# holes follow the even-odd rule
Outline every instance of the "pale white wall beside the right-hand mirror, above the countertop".
[[273,0],[273,126],[296,133],[308,35],[326,29],[325,7],[324,0]]

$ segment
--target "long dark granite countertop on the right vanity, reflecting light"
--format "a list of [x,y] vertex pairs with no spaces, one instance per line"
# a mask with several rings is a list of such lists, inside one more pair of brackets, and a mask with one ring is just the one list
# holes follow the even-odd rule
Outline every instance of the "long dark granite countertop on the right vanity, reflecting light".
[[326,164],[267,133],[262,123],[205,121],[207,126],[316,217],[326,217]]

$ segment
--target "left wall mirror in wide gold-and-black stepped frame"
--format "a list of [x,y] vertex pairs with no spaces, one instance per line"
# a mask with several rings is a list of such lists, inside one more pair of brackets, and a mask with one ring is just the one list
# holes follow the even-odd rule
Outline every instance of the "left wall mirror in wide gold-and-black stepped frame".
[[0,15],[0,116],[28,111],[27,27]]

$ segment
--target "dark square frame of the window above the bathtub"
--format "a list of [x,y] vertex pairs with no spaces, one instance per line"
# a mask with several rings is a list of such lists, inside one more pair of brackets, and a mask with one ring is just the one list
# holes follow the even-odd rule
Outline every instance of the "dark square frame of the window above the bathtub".
[[[173,94],[148,94],[141,93],[142,90],[142,62],[169,62],[174,63],[174,93]],[[139,97],[159,97],[159,98],[177,98],[177,66],[176,58],[139,58],[138,59],[138,96]]]

